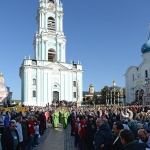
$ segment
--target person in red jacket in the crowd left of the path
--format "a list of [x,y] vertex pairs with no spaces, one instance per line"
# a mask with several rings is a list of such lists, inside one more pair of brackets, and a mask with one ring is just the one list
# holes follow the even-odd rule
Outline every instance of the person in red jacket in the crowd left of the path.
[[33,116],[30,116],[29,121],[28,121],[28,132],[29,132],[29,143],[28,143],[28,149],[32,149],[32,145],[34,142],[34,134],[35,134],[35,129],[34,129],[34,118]]

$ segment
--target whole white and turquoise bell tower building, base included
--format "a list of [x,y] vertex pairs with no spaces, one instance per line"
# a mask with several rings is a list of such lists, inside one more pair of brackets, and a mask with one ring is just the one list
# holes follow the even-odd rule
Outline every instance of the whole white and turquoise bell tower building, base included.
[[62,100],[81,103],[81,62],[66,62],[63,5],[59,0],[40,0],[34,36],[34,59],[20,67],[21,103],[45,106]]

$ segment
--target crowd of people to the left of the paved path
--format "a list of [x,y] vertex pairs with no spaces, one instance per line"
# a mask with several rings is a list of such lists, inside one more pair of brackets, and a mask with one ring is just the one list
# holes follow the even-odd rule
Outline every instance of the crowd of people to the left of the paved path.
[[54,109],[27,107],[26,113],[0,111],[0,133],[2,150],[32,150],[39,144]]

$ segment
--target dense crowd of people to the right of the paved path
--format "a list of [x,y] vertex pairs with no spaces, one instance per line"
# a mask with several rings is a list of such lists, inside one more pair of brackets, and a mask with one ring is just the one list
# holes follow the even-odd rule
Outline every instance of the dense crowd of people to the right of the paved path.
[[150,147],[150,106],[71,109],[71,135],[82,150],[146,150]]

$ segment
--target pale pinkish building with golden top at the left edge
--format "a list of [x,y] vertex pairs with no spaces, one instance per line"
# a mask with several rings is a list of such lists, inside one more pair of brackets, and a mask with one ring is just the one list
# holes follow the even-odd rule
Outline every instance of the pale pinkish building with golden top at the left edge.
[[12,103],[12,92],[10,87],[5,85],[4,76],[0,74],[0,105],[11,105]]

